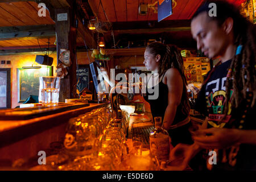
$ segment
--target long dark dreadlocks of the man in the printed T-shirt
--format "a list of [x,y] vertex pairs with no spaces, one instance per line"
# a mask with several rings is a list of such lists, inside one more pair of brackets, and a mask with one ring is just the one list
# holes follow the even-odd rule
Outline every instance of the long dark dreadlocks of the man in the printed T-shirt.
[[[246,98],[246,92],[253,93],[251,107],[255,105],[256,98],[256,78],[255,78],[255,26],[246,20],[240,11],[234,5],[226,1],[206,1],[203,6],[197,10],[193,18],[203,12],[209,12],[209,4],[216,3],[217,16],[209,16],[210,20],[216,20],[218,26],[221,26],[227,18],[233,19],[234,45],[242,48],[234,52],[232,63],[226,78],[226,102],[224,114],[228,114],[229,100],[231,97],[231,106],[237,108],[242,100]],[[193,19],[192,18],[192,19]],[[210,77],[210,74],[209,76]]]

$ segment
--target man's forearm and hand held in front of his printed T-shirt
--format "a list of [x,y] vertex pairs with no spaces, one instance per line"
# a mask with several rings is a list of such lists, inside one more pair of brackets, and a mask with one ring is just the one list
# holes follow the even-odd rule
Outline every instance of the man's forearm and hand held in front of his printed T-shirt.
[[240,132],[238,129],[213,127],[197,130],[192,138],[202,148],[226,148],[239,143]]

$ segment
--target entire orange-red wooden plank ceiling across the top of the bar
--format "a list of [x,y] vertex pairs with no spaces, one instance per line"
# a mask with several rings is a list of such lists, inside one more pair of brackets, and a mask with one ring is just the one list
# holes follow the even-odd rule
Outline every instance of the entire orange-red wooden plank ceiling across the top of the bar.
[[[48,0],[47,0],[48,1]],[[240,5],[244,0],[229,0],[230,2],[236,3]],[[6,0],[0,1],[0,27],[17,27],[17,26],[39,26],[44,24],[55,24],[55,22],[51,19],[49,12],[46,11],[46,17],[38,16],[38,3],[32,1],[20,1],[20,2],[8,2]],[[50,1],[52,6],[55,8],[62,8],[67,5],[63,4],[62,0],[54,0]],[[174,40],[171,43],[179,43],[186,41],[190,44],[192,40],[192,36],[189,30],[183,31],[159,31],[155,32],[133,32],[129,33],[125,32],[123,28],[132,27],[137,28],[137,24],[141,24],[142,28],[143,24],[140,22],[156,22],[158,19],[158,14],[154,13],[154,10],[148,9],[147,15],[139,15],[138,7],[139,3],[155,3],[155,0],[89,0],[86,1],[86,9],[88,9],[88,5],[90,5],[90,9],[92,9],[94,15],[98,17],[100,20],[106,21],[109,19],[112,23],[117,23],[115,27],[114,36],[118,41],[118,39],[154,39],[159,36],[164,36],[167,39]],[[177,6],[173,9],[173,14],[168,18],[164,19],[162,24],[167,24],[168,27],[172,26],[180,26],[189,27],[189,19],[193,16],[197,8],[203,3],[203,0],[176,0]],[[101,4],[102,3],[102,4]],[[105,13],[104,13],[105,11]],[[85,19],[89,19],[90,15],[85,12]],[[175,21],[178,21],[177,23]],[[174,21],[174,22],[172,22]],[[184,23],[185,21],[185,23]],[[187,21],[187,22],[186,22]],[[138,22],[137,24],[134,23]],[[164,23],[166,22],[166,23]],[[169,22],[169,24],[167,23]],[[170,22],[172,24],[170,24]],[[122,23],[130,23],[131,26],[126,25],[123,26]],[[178,25],[177,25],[178,24]],[[118,27],[119,26],[119,27]],[[158,24],[159,26],[159,24]],[[149,29],[152,27],[144,26],[143,28]],[[159,27],[158,27],[159,28]],[[121,31],[120,31],[121,30]],[[87,38],[84,35],[84,31],[79,28],[77,44],[80,46],[84,44],[84,39]],[[143,36],[141,36],[143,35]],[[113,46],[113,37],[111,32],[106,33],[105,41],[109,42],[109,48]],[[91,42],[92,40],[87,39],[86,42]],[[49,37],[49,42],[51,45],[55,42],[55,36]],[[1,47],[22,47],[22,46],[47,46],[48,38],[26,38],[26,39],[11,39],[11,40],[0,40],[0,49]],[[189,45],[189,46],[192,46]]]

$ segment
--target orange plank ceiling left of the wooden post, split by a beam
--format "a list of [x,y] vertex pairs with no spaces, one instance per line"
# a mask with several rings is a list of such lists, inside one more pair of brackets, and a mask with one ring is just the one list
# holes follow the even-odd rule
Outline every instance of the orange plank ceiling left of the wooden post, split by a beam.
[[[0,3],[0,26],[38,26],[44,24],[55,24],[46,11],[46,17],[38,16],[38,3],[36,2],[2,2]],[[55,37],[49,38],[50,44],[54,44]],[[21,47],[21,46],[44,46],[48,45],[48,39],[14,39],[1,40],[0,47]]]

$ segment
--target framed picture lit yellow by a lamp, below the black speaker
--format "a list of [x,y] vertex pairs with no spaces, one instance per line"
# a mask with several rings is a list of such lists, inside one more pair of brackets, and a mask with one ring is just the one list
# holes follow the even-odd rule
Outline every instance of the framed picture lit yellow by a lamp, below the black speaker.
[[38,96],[40,76],[52,76],[52,67],[44,67],[39,69],[17,68],[19,103],[26,101],[30,95]]

